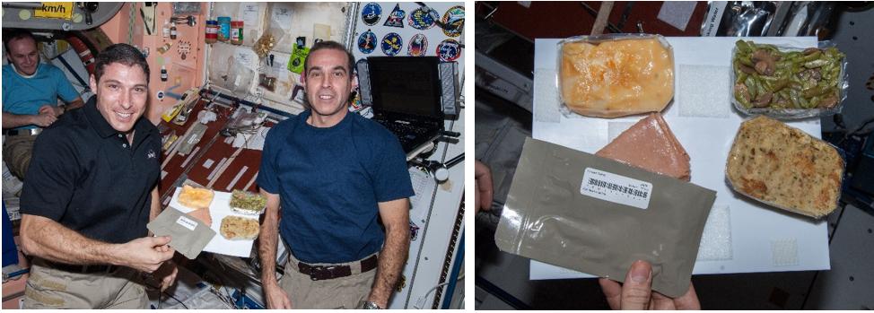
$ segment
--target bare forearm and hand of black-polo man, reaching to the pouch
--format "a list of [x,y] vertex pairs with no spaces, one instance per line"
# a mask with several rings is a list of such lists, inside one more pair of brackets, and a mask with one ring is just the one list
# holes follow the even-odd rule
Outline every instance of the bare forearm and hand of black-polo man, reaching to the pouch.
[[173,257],[176,250],[155,249],[170,243],[169,236],[144,237],[123,244],[88,239],[46,217],[22,214],[22,249],[31,256],[73,264],[111,264],[152,273]]

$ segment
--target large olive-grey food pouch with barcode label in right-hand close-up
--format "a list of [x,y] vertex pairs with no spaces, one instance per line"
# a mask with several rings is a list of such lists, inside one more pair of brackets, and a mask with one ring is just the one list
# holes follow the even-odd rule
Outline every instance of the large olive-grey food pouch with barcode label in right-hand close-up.
[[637,260],[652,290],[686,293],[716,192],[528,138],[494,234],[498,248],[618,282]]

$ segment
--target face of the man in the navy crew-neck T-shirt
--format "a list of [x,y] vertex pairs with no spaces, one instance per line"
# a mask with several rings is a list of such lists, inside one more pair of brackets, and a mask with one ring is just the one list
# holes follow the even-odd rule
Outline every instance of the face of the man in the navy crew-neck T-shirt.
[[347,53],[337,49],[320,49],[307,57],[309,68],[302,83],[307,100],[310,100],[312,117],[315,117],[313,126],[316,126],[316,119],[328,121],[327,126],[333,126],[345,117],[349,95],[354,88],[348,63]]

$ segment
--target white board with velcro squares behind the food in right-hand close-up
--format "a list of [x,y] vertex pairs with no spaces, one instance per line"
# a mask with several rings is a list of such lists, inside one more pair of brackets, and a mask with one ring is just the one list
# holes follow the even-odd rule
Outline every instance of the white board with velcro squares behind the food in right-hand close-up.
[[[563,39],[535,40],[535,90],[532,137],[582,152],[594,153],[646,115],[628,117],[566,117],[555,96],[559,69],[557,44]],[[716,190],[714,221],[704,229],[693,274],[729,274],[828,269],[827,223],[786,212],[741,195],[726,183],[725,165],[740,124],[752,118],[735,109],[730,86],[730,60],[738,38],[668,37],[673,48],[676,93],[661,111],[677,141],[688,152],[690,182]],[[756,38],[756,44],[777,47],[817,47],[815,37]],[[550,74],[553,73],[553,74]],[[782,120],[815,138],[821,136],[818,116]],[[708,228],[721,230],[708,240]],[[724,240],[716,240],[724,239]],[[784,256],[775,251],[791,251]],[[530,279],[591,277],[558,266],[532,262]]]

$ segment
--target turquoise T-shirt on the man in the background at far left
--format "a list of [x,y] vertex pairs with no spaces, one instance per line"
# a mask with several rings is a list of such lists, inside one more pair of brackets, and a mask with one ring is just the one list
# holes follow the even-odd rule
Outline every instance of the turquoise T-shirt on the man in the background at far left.
[[[17,115],[37,115],[39,107],[57,105],[57,97],[70,102],[79,92],[55,65],[40,63],[37,73],[26,78],[15,72],[13,65],[3,65],[3,111]],[[35,125],[15,129],[37,128]]]

